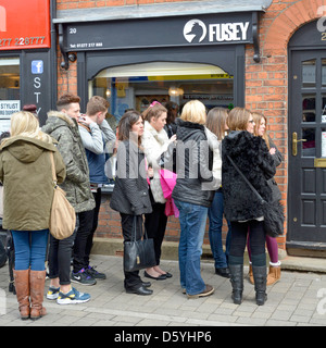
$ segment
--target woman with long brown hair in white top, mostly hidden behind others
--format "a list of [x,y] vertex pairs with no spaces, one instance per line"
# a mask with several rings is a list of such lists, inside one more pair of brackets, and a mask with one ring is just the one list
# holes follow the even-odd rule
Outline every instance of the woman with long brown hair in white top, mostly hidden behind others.
[[[213,176],[220,181],[218,183],[222,181],[221,147],[222,139],[225,137],[225,132],[228,129],[226,124],[227,115],[227,109],[214,108],[208,113],[206,120],[206,136],[210,148],[213,150]],[[212,206],[209,208],[209,237],[211,250],[215,260],[215,273],[224,277],[229,277],[227,258],[229,252],[230,223],[227,221],[228,233],[226,237],[226,250],[224,252],[222,243],[223,214],[223,191],[222,185],[218,185],[214,194]]]

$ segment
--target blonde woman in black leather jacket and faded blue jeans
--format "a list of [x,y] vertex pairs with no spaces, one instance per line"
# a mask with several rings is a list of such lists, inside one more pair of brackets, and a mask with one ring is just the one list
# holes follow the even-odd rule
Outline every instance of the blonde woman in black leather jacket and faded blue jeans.
[[[187,102],[177,119],[177,182],[172,198],[179,210],[179,270],[181,288],[188,298],[212,295],[200,273],[200,257],[208,210],[213,200],[213,177],[209,159],[213,157],[204,130],[205,107],[199,100]],[[211,184],[211,187],[209,187]]]

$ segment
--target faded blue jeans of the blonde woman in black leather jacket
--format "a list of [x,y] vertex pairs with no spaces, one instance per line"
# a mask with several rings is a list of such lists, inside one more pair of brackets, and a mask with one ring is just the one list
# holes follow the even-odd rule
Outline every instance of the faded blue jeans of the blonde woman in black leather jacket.
[[200,274],[200,257],[208,219],[208,208],[174,200],[179,210],[179,271],[180,284],[188,295],[205,289]]

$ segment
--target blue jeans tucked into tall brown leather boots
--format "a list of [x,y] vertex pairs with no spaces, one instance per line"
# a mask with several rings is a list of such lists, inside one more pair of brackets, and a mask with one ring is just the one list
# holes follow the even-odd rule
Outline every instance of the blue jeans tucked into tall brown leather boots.
[[49,229],[11,231],[15,249],[15,270],[45,271]]

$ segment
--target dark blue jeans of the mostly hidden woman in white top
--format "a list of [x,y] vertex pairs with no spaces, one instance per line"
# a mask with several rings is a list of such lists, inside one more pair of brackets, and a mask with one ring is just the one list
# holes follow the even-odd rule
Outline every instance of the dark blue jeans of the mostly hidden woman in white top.
[[214,199],[212,206],[209,208],[209,219],[210,219],[210,229],[209,229],[209,238],[211,250],[213,253],[213,258],[215,260],[216,269],[225,269],[227,268],[227,258],[229,254],[229,241],[231,227],[230,222],[227,221],[228,232],[226,236],[225,243],[225,252],[223,250],[222,243],[222,226],[223,226],[223,192],[222,190],[217,190],[214,195]]

